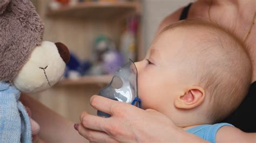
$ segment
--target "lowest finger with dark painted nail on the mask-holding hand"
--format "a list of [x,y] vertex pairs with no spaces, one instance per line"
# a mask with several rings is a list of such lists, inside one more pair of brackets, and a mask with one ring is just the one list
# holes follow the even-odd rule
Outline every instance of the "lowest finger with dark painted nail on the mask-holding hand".
[[78,133],[90,142],[118,142],[107,135],[105,132],[90,130],[83,127],[82,124],[78,124]]

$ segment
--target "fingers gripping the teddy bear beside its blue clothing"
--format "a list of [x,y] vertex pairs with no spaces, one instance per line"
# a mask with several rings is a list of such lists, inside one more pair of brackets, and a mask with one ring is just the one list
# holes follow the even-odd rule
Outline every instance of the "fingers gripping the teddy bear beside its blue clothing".
[[30,125],[31,125],[32,141],[35,142],[38,138],[40,126],[39,126],[39,124],[37,124],[37,122],[35,120],[33,120],[31,118],[31,110],[26,106],[25,106],[25,108],[26,108],[26,112],[28,112],[28,115],[30,117],[29,119],[30,119]]

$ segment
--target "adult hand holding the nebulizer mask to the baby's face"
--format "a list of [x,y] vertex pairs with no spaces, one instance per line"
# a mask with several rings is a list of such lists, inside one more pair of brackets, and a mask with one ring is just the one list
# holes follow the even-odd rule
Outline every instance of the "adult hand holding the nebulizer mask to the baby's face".
[[[103,118],[81,113],[81,123],[76,124],[75,128],[92,142],[180,142],[192,135],[155,110],[139,109],[97,95],[91,97],[91,106],[111,115],[110,118]],[[202,141],[193,135],[191,138]]]

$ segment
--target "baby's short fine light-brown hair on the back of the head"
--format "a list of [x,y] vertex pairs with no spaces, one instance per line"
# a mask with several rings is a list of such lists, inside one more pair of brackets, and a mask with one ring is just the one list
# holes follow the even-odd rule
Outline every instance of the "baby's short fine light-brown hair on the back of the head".
[[[189,53],[198,84],[204,88],[211,111],[206,116],[216,122],[232,113],[242,102],[251,84],[252,67],[246,45],[231,31],[203,19],[182,20],[160,32],[185,28],[196,36]],[[193,76],[191,74],[191,76]]]

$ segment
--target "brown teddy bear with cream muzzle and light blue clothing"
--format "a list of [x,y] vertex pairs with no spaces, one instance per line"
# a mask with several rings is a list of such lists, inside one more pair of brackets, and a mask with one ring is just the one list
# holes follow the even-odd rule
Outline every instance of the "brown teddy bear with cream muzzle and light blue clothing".
[[42,41],[44,24],[30,0],[0,0],[0,142],[31,142],[21,92],[40,92],[62,77],[70,54]]

